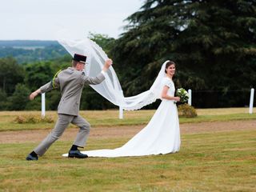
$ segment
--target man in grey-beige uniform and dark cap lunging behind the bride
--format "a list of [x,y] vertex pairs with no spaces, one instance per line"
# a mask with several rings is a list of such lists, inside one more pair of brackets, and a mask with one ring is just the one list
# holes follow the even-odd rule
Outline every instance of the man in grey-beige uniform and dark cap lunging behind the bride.
[[86,119],[82,118],[79,112],[80,98],[84,84],[96,85],[105,79],[106,70],[112,65],[112,60],[108,59],[102,68],[102,72],[97,77],[91,78],[86,76],[84,68],[86,65],[86,56],[74,54],[72,67],[62,70],[56,78],[38,90],[30,94],[30,100],[33,100],[38,94],[46,93],[59,87],[62,98],[58,104],[58,121],[54,129],[48,136],[30,153],[26,160],[38,160],[38,156],[46,153],[46,150],[62,135],[70,122],[80,128],[74,145],[69,151],[70,158],[87,158],[86,154],[82,154],[78,147],[83,147],[86,144],[86,139],[90,133],[90,124]]

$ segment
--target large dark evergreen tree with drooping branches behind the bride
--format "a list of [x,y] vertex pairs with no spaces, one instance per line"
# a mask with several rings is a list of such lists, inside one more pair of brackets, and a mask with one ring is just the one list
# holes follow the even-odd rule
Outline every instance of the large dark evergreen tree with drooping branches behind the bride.
[[255,86],[255,11],[255,0],[145,1],[112,50],[126,94],[147,90],[166,59],[185,88]]

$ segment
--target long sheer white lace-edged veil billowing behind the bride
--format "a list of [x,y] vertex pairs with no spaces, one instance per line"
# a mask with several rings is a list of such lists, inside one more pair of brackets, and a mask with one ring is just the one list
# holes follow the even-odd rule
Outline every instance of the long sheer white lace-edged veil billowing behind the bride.
[[[72,56],[75,53],[87,56],[87,62],[89,64],[86,65],[86,75],[91,77],[95,77],[100,73],[108,58],[102,48],[89,38],[82,40],[59,39],[58,42],[64,46]],[[161,98],[161,82],[162,78],[165,77],[166,62],[162,64],[158,77],[150,87],[150,90],[146,90],[133,97],[124,97],[118,76],[115,74],[112,66],[110,66],[110,69],[106,73],[105,81],[98,85],[90,86],[96,90],[98,94],[101,94],[114,105],[121,106],[124,110],[138,110],[143,106],[155,102],[156,99]]]

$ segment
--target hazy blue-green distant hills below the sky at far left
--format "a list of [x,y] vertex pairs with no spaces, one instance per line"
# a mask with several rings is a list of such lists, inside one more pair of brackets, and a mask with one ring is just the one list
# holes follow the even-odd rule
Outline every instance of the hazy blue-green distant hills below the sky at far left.
[[57,41],[0,41],[0,58],[13,57],[18,63],[62,58],[68,54]]

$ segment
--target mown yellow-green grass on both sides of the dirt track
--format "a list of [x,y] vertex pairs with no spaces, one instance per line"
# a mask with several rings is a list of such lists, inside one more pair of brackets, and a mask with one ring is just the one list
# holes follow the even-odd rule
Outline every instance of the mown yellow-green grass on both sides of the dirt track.
[[[255,111],[255,110],[254,110]],[[17,124],[18,114],[1,112],[1,133],[50,129],[53,123]],[[242,122],[256,120],[242,109],[198,110],[198,118],[180,122]],[[40,114],[40,112],[33,112]],[[56,118],[55,112],[48,112]],[[145,124],[154,110],[82,111],[92,126]],[[207,127],[206,127],[207,129]],[[130,138],[90,137],[87,150],[122,146]],[[129,158],[62,158],[70,141],[58,141],[38,162],[26,154],[38,142],[0,142],[0,191],[256,191],[256,127],[251,130],[182,134],[176,154]]]

